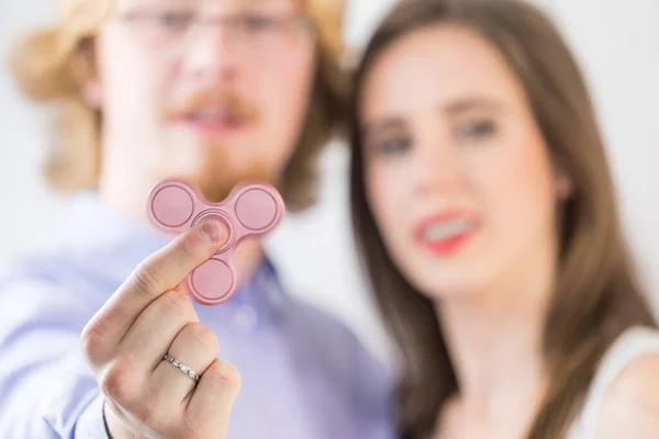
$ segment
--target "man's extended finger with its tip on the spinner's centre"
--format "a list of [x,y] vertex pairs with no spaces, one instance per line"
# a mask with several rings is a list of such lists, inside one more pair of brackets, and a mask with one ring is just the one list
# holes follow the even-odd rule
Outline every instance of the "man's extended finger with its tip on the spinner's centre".
[[226,227],[216,219],[191,227],[144,259],[88,326],[102,335],[104,346],[116,346],[153,301],[174,290],[227,239]]

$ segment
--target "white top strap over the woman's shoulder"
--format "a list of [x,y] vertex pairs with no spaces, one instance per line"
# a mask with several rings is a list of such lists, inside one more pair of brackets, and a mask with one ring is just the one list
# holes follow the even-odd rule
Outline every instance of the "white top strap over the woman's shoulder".
[[570,429],[569,439],[595,439],[601,406],[607,387],[633,360],[650,352],[659,353],[659,331],[657,330],[634,327],[618,337],[600,363],[583,409]]

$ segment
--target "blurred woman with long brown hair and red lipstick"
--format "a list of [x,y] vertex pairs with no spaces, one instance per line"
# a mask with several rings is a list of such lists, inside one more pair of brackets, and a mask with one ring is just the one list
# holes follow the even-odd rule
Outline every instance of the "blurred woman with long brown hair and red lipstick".
[[406,1],[354,86],[354,226],[403,358],[403,436],[659,437],[659,335],[552,23]]

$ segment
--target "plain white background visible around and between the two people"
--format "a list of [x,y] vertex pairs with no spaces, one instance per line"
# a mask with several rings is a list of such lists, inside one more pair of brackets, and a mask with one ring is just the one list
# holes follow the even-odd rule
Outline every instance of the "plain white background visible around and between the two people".
[[[0,50],[46,19],[52,0],[0,0]],[[348,0],[346,37],[361,44],[391,0]],[[543,0],[582,63],[610,147],[625,226],[659,304],[659,0]],[[0,67],[0,258],[37,248],[62,221],[65,198],[41,177],[45,115],[23,101]],[[324,159],[319,206],[290,216],[270,240],[287,281],[355,328],[379,356],[388,344],[354,254],[346,154]]]

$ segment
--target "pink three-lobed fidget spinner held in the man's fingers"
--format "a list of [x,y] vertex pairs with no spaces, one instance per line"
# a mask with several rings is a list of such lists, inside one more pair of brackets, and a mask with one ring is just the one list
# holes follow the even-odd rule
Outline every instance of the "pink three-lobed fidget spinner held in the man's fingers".
[[209,219],[219,219],[228,235],[226,244],[187,278],[192,296],[204,305],[226,301],[237,285],[232,255],[249,236],[265,235],[283,217],[286,205],[269,184],[241,183],[220,203],[210,203],[201,192],[181,181],[163,180],[149,192],[147,214],[165,232],[181,233]]

